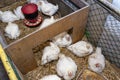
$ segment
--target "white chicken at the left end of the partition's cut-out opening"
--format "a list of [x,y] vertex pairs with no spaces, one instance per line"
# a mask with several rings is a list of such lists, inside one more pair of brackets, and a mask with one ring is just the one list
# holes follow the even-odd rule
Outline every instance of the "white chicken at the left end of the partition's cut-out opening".
[[52,60],[57,60],[60,53],[60,49],[57,45],[50,42],[50,46],[47,46],[43,50],[42,62],[41,64],[44,65]]

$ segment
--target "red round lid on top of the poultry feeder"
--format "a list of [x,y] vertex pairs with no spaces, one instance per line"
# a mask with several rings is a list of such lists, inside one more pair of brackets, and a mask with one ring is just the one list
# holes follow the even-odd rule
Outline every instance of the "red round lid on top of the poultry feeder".
[[38,10],[38,6],[34,3],[26,4],[22,7],[23,14],[32,14]]

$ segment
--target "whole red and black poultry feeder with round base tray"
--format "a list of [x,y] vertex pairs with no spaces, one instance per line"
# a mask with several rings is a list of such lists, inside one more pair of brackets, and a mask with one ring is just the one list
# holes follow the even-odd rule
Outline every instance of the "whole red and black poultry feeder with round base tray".
[[42,18],[38,14],[38,6],[34,3],[26,4],[22,7],[22,12],[25,16],[24,24],[29,27],[40,25]]

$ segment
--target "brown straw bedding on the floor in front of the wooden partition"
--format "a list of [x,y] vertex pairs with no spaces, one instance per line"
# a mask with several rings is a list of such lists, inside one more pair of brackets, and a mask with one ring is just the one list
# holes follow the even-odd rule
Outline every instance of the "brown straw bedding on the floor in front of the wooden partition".
[[[86,38],[83,38],[83,40],[86,41]],[[25,76],[27,77],[28,80],[39,80],[45,75],[49,74],[57,74],[56,72],[56,64],[57,61],[52,61],[44,66],[41,66],[41,57],[42,57],[42,50],[44,49],[45,46],[49,45],[49,41],[45,42],[41,45],[38,45],[35,49],[33,49],[35,59],[38,63],[38,68],[36,68],[33,71],[30,71],[27,73]],[[76,80],[76,78],[80,75],[81,71],[84,71],[84,69],[88,68],[88,56],[79,58],[75,56],[72,52],[70,52],[66,48],[61,48],[61,53],[64,53],[66,56],[71,57],[75,63],[78,66],[78,70],[76,73],[76,77],[73,80]],[[89,70],[88,70],[89,72]],[[89,72],[90,74],[93,74],[93,72]],[[82,76],[82,74],[81,74]],[[88,76],[88,74],[84,74],[84,76]],[[97,77],[95,77],[97,76]],[[120,76],[117,73],[117,71],[111,66],[111,64],[106,60],[106,67],[104,71],[102,72],[101,75],[94,73],[91,77],[95,77],[94,79],[92,78],[91,80],[120,80]],[[102,78],[100,78],[102,77]],[[64,80],[64,79],[62,79]],[[87,79],[78,79],[78,80],[87,80]]]

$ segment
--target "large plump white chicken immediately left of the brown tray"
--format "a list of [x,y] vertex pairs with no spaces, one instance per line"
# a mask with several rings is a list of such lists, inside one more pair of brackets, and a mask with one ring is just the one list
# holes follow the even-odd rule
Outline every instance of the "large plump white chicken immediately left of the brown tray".
[[56,65],[57,74],[63,77],[65,80],[71,80],[75,77],[77,71],[77,65],[70,57],[66,57],[64,54],[59,55],[59,60]]

